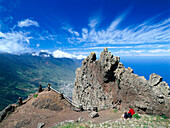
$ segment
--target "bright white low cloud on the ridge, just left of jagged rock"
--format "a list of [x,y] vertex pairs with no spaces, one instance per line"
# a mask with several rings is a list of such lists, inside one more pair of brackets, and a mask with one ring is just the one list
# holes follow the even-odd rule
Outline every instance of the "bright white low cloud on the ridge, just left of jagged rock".
[[69,53],[66,53],[66,52],[63,52],[63,51],[60,51],[60,50],[56,50],[52,53],[52,55],[55,57],[55,58],[77,58],[77,59],[83,59],[85,58],[86,56],[84,55],[73,55],[73,54],[69,54]]

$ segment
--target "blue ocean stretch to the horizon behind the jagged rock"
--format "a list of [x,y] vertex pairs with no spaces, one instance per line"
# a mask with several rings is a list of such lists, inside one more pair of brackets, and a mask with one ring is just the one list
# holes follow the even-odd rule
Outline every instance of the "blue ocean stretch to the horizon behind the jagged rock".
[[152,73],[156,73],[163,77],[163,81],[170,86],[170,57],[169,56],[122,56],[120,62],[126,68],[130,67],[134,73],[139,76],[144,76],[149,80]]

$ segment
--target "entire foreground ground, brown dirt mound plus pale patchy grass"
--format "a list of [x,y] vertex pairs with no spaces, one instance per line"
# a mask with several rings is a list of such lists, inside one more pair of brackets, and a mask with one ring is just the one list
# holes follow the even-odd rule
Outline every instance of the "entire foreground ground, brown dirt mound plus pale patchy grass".
[[[98,111],[99,116],[90,118],[90,111],[73,111],[72,105],[53,90],[32,95],[22,106],[0,122],[3,128],[36,128],[39,123],[43,128],[119,128],[119,127],[169,127],[170,121],[160,116],[141,115],[140,119],[121,118],[122,111],[108,109]],[[38,128],[38,127],[37,127]]]

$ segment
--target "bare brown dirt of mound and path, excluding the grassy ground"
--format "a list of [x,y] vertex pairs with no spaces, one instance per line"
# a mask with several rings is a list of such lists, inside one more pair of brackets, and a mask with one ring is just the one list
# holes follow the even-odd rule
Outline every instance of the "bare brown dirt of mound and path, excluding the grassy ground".
[[[33,103],[38,102],[38,105],[44,105],[51,99],[50,104],[57,104],[57,107],[62,108],[62,110],[52,111],[49,109],[39,109],[33,106]],[[47,106],[48,107],[48,106]],[[45,123],[43,128],[48,128],[54,126],[57,122],[63,122],[65,120],[77,120],[79,117],[84,117],[85,121],[92,121],[94,123],[101,123],[107,120],[116,120],[120,118],[121,112],[114,113],[113,109],[99,111],[99,117],[90,119],[88,117],[89,112],[75,112],[73,111],[69,103],[66,100],[60,100],[59,94],[53,91],[44,91],[38,94],[37,98],[32,98],[26,104],[18,107],[15,112],[8,116],[7,119],[0,123],[2,128],[36,128],[37,124],[40,122]]]

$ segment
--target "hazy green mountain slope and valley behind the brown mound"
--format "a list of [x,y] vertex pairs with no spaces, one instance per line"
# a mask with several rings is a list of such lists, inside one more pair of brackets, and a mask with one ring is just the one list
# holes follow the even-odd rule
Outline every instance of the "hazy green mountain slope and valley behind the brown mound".
[[[35,92],[39,84],[47,87],[51,83],[60,90],[69,86],[75,79],[75,70],[82,60],[54,58],[48,53],[39,55],[0,54],[0,110],[16,102],[18,97],[26,98]],[[64,91],[64,90],[63,90]],[[70,94],[69,94],[70,95]]]

